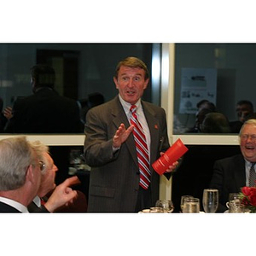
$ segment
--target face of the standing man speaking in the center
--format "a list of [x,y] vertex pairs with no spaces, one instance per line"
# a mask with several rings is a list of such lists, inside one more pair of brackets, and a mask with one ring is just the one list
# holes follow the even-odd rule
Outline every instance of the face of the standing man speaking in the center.
[[113,78],[116,88],[119,90],[120,96],[125,102],[135,104],[143,91],[148,86],[148,79],[145,80],[145,71],[142,68],[131,68],[121,66],[118,78]]

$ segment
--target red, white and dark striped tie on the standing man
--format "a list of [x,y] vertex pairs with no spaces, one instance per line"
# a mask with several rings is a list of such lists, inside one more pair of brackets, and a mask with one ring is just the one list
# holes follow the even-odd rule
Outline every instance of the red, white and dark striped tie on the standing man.
[[143,126],[137,119],[136,106],[132,105],[131,111],[131,125],[134,125],[133,137],[137,149],[137,160],[140,171],[140,186],[143,189],[148,189],[150,183],[151,172],[149,170],[149,157],[148,146],[146,143],[146,137],[143,131]]

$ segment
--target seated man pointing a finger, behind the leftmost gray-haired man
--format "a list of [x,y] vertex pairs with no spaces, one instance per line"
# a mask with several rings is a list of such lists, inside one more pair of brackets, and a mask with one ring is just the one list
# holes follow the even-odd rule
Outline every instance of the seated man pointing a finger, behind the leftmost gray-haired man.
[[[80,183],[78,177],[67,178],[63,183],[56,186],[55,173],[58,167],[49,155],[49,147],[39,141],[30,143],[32,148],[38,154],[39,167],[41,170],[41,183],[38,189],[38,195],[27,207],[29,212],[86,212],[87,201],[84,195],[84,201],[79,191],[73,191],[69,186]],[[68,201],[69,193],[75,193],[72,201]],[[49,195],[50,194],[50,195]],[[79,195],[79,196],[78,196]],[[78,201],[79,197],[79,201]],[[77,207],[79,204],[79,207]],[[65,212],[64,211],[64,212]]]

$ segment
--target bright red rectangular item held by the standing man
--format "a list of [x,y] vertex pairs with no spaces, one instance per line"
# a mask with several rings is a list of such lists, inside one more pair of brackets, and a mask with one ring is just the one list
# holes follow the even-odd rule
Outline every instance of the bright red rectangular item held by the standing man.
[[152,164],[154,171],[159,175],[162,175],[166,172],[169,166],[172,166],[174,162],[176,162],[179,158],[185,154],[189,148],[187,148],[181,139],[177,139],[175,143],[172,144],[170,148],[168,148],[162,156]]

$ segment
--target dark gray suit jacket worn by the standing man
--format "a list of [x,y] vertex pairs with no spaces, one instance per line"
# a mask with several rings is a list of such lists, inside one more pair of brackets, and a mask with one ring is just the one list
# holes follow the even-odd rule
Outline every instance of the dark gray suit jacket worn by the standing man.
[[[169,148],[166,113],[163,108],[143,102],[151,136],[150,162]],[[129,127],[125,111],[116,96],[112,101],[91,108],[86,116],[84,159],[92,167],[88,212],[135,212],[139,190],[137,152],[132,134],[113,154],[113,135],[121,123]],[[159,197],[159,175],[151,166],[152,205]]]

